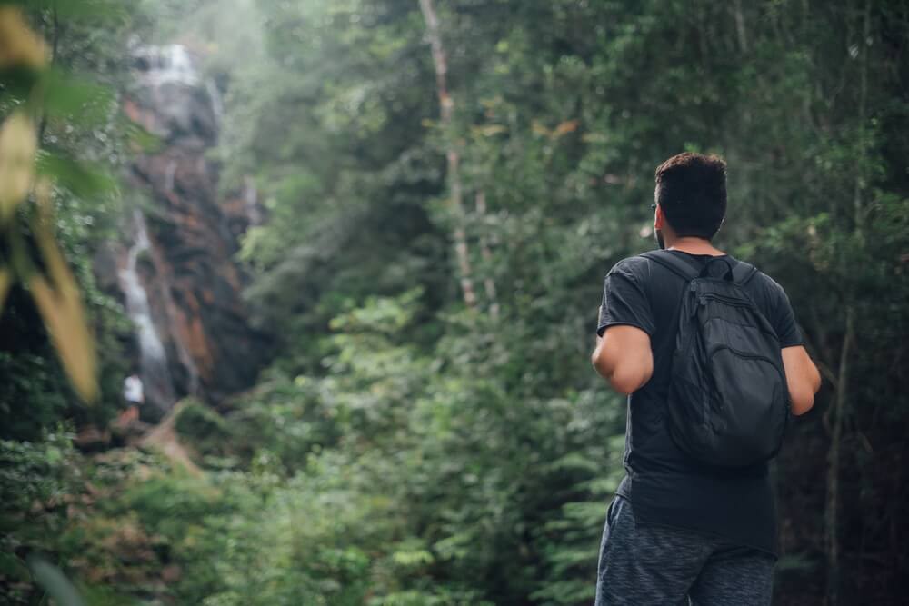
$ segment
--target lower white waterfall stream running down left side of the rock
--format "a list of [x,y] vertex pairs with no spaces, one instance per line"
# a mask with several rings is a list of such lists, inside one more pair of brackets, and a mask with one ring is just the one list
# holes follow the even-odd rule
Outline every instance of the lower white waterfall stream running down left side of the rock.
[[136,271],[139,254],[151,251],[145,217],[133,211],[135,242],[126,257],[126,266],[118,272],[120,287],[126,297],[126,313],[135,323],[139,338],[139,376],[145,387],[146,400],[167,409],[175,402],[174,382],[167,365],[164,343],[152,322],[148,293]]

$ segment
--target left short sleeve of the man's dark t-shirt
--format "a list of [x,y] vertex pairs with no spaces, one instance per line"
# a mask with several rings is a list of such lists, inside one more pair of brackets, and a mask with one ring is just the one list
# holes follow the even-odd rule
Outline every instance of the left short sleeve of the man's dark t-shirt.
[[617,263],[608,274],[603,286],[603,302],[600,304],[600,318],[596,333],[615,324],[636,326],[653,336],[656,330],[650,300],[642,283],[639,271],[646,265],[634,265],[625,260]]

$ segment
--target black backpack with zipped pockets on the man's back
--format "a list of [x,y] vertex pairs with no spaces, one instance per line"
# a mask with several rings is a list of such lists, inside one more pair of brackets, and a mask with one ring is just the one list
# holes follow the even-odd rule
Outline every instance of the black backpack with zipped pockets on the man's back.
[[674,442],[712,467],[773,458],[789,422],[789,390],[779,339],[744,291],[757,269],[716,257],[698,272],[668,251],[642,256],[685,281],[666,399]]

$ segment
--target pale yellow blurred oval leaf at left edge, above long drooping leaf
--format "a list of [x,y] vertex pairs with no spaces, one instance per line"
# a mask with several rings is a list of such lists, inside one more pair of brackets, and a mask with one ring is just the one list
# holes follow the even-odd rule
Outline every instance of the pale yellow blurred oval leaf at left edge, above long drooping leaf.
[[15,213],[25,199],[35,174],[38,149],[35,123],[23,112],[15,112],[0,127],[0,222]]

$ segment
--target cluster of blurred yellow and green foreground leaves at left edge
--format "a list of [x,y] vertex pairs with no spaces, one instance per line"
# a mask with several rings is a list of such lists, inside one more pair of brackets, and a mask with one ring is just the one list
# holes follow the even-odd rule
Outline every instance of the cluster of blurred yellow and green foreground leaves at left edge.
[[[25,67],[44,74],[29,94],[30,103],[35,103],[37,92],[45,113],[75,114],[110,101],[103,89],[67,80],[65,74],[45,69],[45,64],[45,43],[26,25],[20,10],[11,5],[0,6],[0,69]],[[51,184],[45,178],[35,184],[37,213],[31,222],[43,263],[34,263],[30,258],[29,248],[15,225],[16,209],[35,183],[38,143],[35,121],[23,108],[7,116],[0,126],[0,226],[10,246],[9,266],[0,267],[0,310],[13,280],[26,283],[75,391],[85,402],[93,402],[99,391],[95,343],[85,323],[75,277],[54,238]],[[63,158],[47,155],[43,168],[47,169],[48,164],[62,174],[73,191],[95,194],[107,187],[92,171]],[[46,273],[35,264],[44,267]]]

